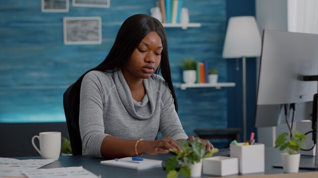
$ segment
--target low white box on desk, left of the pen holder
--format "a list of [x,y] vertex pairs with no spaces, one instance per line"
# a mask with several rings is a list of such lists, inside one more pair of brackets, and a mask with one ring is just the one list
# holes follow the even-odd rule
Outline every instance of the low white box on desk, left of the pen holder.
[[204,158],[203,174],[218,176],[238,174],[238,158],[226,156]]

